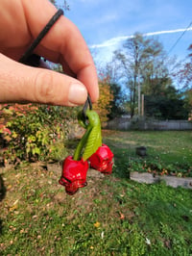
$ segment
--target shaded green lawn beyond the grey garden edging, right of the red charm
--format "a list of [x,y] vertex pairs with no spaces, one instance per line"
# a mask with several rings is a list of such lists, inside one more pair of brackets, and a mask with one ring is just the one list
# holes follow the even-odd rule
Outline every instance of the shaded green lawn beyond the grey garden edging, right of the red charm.
[[[121,166],[121,176],[129,176],[132,170],[146,171],[149,166],[159,172],[167,169],[179,176],[192,176],[191,132],[106,132],[105,140],[115,153],[117,166]],[[145,158],[135,155],[135,148],[143,145],[147,147]]]

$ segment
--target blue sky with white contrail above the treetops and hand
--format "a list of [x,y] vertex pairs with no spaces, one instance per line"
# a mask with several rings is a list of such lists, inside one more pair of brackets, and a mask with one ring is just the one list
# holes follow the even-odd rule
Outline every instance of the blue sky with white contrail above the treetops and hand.
[[[58,0],[62,5],[63,0]],[[192,43],[192,0],[67,0],[65,12],[98,64],[108,63],[126,38],[153,35],[169,56],[186,57]],[[186,28],[188,29],[186,30]]]

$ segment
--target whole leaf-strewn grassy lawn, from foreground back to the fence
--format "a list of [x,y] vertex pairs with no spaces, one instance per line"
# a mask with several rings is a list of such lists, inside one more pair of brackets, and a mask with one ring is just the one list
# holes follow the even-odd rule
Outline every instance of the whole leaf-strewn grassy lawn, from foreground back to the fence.
[[129,180],[140,145],[149,161],[191,166],[192,133],[105,131],[104,141],[113,174],[89,170],[73,196],[58,184],[59,165],[0,169],[0,255],[192,255],[192,191]]

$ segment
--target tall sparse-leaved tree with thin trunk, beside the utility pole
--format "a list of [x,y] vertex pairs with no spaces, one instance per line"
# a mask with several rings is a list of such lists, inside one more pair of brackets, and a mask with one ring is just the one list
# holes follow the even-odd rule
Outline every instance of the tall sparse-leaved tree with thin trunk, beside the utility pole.
[[[137,89],[141,80],[147,80],[154,70],[154,62],[162,54],[162,45],[154,38],[144,38],[136,33],[124,44],[124,52],[116,51],[115,58],[124,69],[126,83],[130,90],[131,117],[135,114]],[[149,73],[149,74],[148,74]]]

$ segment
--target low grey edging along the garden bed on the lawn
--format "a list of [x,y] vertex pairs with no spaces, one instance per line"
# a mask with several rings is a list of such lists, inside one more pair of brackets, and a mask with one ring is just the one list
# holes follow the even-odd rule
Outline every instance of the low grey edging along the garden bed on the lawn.
[[174,176],[166,176],[166,175],[154,175],[153,173],[148,172],[138,172],[132,171],[130,173],[130,178],[133,181],[137,181],[139,183],[153,184],[161,181],[165,181],[166,185],[171,186],[173,188],[182,187],[185,189],[192,190],[192,178],[180,178]]

